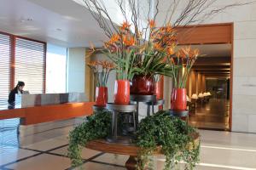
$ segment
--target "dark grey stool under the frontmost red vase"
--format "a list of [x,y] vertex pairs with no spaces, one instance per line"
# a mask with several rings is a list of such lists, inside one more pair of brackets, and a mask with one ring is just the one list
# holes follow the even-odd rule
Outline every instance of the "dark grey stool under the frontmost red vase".
[[133,128],[136,131],[137,130],[137,124],[136,124],[137,105],[115,105],[113,103],[108,103],[106,107],[108,111],[112,112],[112,126],[111,126],[112,135],[108,137],[108,142],[120,143],[120,144],[131,143],[131,137],[118,136],[118,116],[121,113],[132,112]]

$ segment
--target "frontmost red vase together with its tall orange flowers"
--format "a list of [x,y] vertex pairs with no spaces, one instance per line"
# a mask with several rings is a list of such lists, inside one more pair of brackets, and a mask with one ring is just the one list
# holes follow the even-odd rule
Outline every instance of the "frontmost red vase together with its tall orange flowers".
[[[113,34],[104,48],[98,48],[106,54],[114,63],[116,81],[114,83],[114,103],[117,105],[128,105],[130,103],[130,80],[133,77],[133,63],[137,55],[135,35],[131,32],[128,22],[119,26],[117,33]],[[94,53],[96,49],[92,48]]]

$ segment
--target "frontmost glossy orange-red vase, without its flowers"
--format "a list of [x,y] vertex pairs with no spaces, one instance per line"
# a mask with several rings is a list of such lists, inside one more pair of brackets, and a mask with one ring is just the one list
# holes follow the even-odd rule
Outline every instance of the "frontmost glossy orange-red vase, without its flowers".
[[129,105],[130,82],[128,80],[116,80],[114,82],[114,103],[117,105]]

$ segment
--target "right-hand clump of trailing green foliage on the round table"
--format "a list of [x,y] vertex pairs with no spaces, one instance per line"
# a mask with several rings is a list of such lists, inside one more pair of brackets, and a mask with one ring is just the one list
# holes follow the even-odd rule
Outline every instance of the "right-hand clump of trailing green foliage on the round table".
[[139,123],[136,144],[141,148],[137,169],[152,168],[150,157],[160,146],[166,156],[165,169],[172,169],[178,161],[185,162],[185,169],[193,169],[199,161],[199,141],[191,134],[195,129],[189,127],[178,117],[170,116],[168,111],[159,111]]

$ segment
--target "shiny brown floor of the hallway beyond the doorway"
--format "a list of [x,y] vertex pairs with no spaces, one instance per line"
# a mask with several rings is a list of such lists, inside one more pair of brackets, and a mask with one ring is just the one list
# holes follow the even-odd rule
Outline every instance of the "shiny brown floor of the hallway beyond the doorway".
[[230,102],[226,99],[211,99],[189,115],[189,124],[194,127],[226,130],[229,129]]

